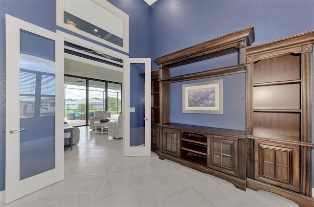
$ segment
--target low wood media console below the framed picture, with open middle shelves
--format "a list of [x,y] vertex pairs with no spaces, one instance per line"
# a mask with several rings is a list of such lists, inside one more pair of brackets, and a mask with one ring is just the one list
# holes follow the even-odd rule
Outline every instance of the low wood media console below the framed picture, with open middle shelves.
[[[179,123],[160,124],[160,127],[162,128],[162,152],[158,153],[160,159],[176,161],[212,174],[245,190],[246,172],[240,170],[240,166],[246,164],[245,152],[240,147],[245,147],[245,131]],[[243,152],[240,153],[240,150]]]

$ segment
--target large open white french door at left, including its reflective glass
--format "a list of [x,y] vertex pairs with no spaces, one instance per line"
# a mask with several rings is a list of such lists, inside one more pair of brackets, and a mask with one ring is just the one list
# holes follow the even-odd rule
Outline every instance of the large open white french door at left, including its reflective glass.
[[5,203],[64,179],[63,37],[6,15]]

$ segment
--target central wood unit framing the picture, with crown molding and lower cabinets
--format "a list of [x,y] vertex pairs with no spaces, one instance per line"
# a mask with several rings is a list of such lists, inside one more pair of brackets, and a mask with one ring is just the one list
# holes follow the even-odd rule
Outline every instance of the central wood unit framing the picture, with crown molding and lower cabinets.
[[[249,26],[155,59],[159,65],[161,147],[156,152],[160,159],[177,161],[225,179],[238,188],[246,188],[245,131],[169,123],[169,85],[246,72],[245,48],[254,40],[254,28]],[[178,76],[170,75],[171,68],[231,53],[238,55],[238,64],[235,66]]]

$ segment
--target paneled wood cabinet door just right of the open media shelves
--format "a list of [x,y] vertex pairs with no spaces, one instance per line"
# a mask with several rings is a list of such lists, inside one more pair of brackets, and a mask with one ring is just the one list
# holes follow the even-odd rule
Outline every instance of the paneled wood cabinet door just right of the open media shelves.
[[238,176],[238,138],[209,135],[208,167]]

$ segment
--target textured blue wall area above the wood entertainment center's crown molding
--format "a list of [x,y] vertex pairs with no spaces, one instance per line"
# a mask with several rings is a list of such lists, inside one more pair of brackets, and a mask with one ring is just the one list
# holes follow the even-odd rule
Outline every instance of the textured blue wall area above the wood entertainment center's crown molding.
[[151,6],[151,55],[156,58],[250,25],[255,28],[253,45],[312,30],[313,10],[313,0],[157,0]]

